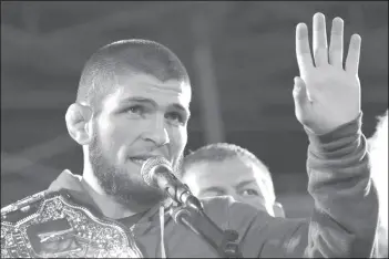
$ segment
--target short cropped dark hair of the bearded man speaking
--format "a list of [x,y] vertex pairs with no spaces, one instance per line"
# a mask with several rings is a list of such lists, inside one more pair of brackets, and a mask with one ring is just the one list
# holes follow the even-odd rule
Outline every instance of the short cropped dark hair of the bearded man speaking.
[[150,40],[121,40],[98,50],[81,73],[76,102],[95,105],[114,90],[117,74],[149,74],[160,81],[190,84],[180,59],[166,46]]

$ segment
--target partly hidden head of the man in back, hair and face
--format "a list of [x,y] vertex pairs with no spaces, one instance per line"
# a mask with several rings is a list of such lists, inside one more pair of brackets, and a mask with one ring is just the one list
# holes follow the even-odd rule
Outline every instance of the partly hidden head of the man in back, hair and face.
[[285,217],[269,169],[240,146],[217,143],[198,148],[184,158],[181,177],[199,198],[232,196],[270,216]]

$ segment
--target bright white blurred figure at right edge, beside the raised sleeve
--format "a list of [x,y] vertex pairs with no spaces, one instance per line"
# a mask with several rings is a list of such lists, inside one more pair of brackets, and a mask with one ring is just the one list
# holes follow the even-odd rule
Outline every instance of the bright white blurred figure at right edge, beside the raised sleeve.
[[388,258],[388,110],[378,118],[375,134],[369,139],[371,177],[379,197],[378,253]]

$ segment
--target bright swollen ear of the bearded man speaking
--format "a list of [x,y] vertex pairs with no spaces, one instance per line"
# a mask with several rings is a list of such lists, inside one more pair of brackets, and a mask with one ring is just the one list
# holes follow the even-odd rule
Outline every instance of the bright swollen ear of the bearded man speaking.
[[93,112],[90,106],[79,103],[73,103],[66,111],[68,132],[80,145],[88,145],[93,139],[93,132],[90,131],[92,115]]

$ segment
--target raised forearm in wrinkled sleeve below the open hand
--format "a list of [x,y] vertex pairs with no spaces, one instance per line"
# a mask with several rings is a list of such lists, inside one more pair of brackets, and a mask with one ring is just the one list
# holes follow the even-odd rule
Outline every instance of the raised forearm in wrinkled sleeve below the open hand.
[[331,133],[308,132],[308,191],[315,199],[308,257],[370,257],[378,197],[370,180],[361,115]]

